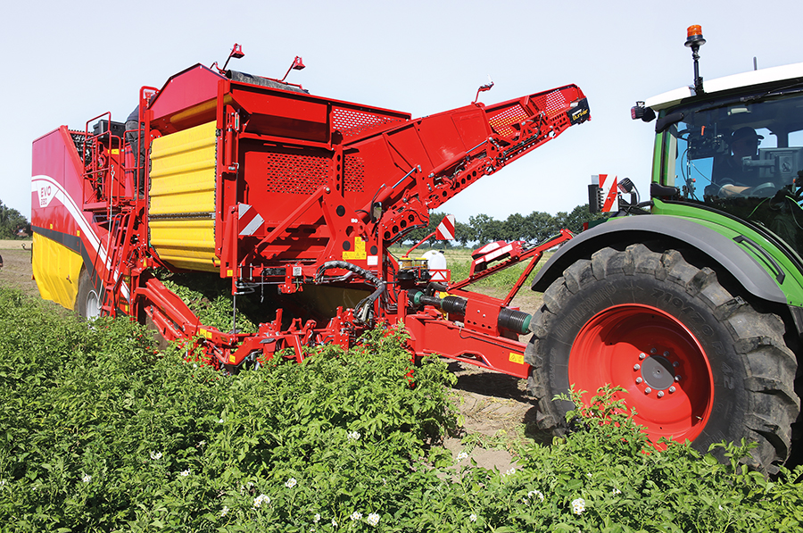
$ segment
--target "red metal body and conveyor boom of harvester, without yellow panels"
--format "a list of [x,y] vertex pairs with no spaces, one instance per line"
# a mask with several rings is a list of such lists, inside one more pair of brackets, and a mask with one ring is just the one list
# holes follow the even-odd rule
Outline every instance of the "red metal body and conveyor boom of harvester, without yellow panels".
[[[311,346],[348,347],[364,329],[401,321],[410,331],[413,354],[443,354],[527,376],[524,345],[518,341],[522,332],[506,329],[499,316],[542,253],[570,238],[569,232],[542,246],[515,243],[515,253],[449,285],[465,306],[462,314],[448,316],[432,304],[410,302],[410,290],[429,294],[429,273],[400,265],[388,247],[410,230],[426,227],[430,210],[477,179],[587,120],[578,87],[411,120],[409,113],[311,96],[292,84],[284,90],[238,82],[195,65],[161,89],[143,87],[139,103],[147,143],[216,122],[215,264],[221,278],[231,279],[233,293],[275,286],[292,297],[304,287],[329,284],[373,294],[360,309],[337,307],[320,325],[311,316],[294,316],[283,327],[288,311],[279,308],[276,318],[253,335],[205,327],[153,276],[154,266],[176,269],[150,245],[147,193],[139,197],[133,183],[137,154],[125,136],[90,135],[87,122],[79,135],[91,148],[84,150],[86,162],[76,156],[78,141],[66,129],[61,130],[67,148],[61,163],[51,148],[55,137],[34,144],[35,176],[51,176],[65,195],[78,194],[72,197],[80,198],[79,208],[40,206],[37,195],[32,218],[40,232],[63,219],[72,221],[67,224],[72,231],[85,229],[80,238],[87,269],[103,289],[103,313],[146,317],[166,339],[192,339],[209,362],[228,369],[284,348],[302,361]],[[95,119],[102,117],[111,122],[109,113]],[[58,171],[59,164],[71,167]],[[146,162],[145,177],[148,172]],[[98,192],[97,183],[111,188]],[[465,288],[526,259],[531,262],[503,299]]]

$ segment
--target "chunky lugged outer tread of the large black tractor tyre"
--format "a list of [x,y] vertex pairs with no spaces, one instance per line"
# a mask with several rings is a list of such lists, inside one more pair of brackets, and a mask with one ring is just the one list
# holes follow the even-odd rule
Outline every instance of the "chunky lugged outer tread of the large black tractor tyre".
[[744,426],[757,442],[753,450],[755,466],[776,471],[789,455],[791,423],[800,411],[799,397],[794,392],[797,360],[783,342],[783,321],[774,314],[759,313],[739,296],[732,296],[708,267],[698,269],[683,259],[676,250],[663,254],[636,244],[625,251],[603,248],[591,260],[581,259],[563,272],[543,295],[541,309],[534,313],[531,330],[534,335],[526,348],[525,361],[533,367],[528,379],[530,394],[535,396],[541,414],[539,426],[562,433],[564,418],[545,383],[546,369],[539,343],[559,321],[559,313],[567,304],[567,296],[577,295],[591,280],[604,280],[616,274],[638,272],[658,280],[674,283],[704,302],[717,320],[726,324],[734,339],[734,350],[741,354],[748,375],[743,387],[748,391],[749,405],[744,413]]

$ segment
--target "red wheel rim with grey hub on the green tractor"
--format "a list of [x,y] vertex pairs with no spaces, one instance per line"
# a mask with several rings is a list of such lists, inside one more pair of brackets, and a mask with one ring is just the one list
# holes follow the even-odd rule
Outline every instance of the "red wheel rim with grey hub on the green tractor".
[[700,342],[682,322],[655,307],[625,304],[599,312],[577,334],[569,383],[585,404],[599,387],[624,388],[616,399],[635,408],[650,441],[694,440],[714,403],[714,379]]

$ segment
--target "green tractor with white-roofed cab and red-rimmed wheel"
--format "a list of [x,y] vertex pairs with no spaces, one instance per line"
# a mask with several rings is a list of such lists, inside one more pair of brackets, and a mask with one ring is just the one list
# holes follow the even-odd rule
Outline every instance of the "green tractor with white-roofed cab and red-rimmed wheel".
[[529,388],[544,429],[572,408],[554,396],[610,383],[653,442],[745,438],[772,473],[800,462],[803,63],[703,84],[704,43],[692,26],[693,86],[633,108],[655,121],[650,200],[623,180],[617,216],[535,279]]

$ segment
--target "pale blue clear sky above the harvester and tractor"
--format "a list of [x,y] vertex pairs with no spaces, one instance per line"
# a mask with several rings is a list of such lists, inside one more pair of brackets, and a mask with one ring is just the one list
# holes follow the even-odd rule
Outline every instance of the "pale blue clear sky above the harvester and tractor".
[[[288,80],[313,95],[410,112],[470,103],[494,82],[492,104],[576,83],[592,121],[444,204],[459,221],[485,213],[570,211],[592,174],[633,179],[647,196],[652,124],[630,120],[636,100],[691,84],[686,28],[708,40],[700,73],[713,79],[803,61],[798,1],[755,2],[294,2],[223,0],[112,3],[29,1],[4,8],[6,74],[0,200],[30,214],[30,146],[103,112],[125,121],[139,87],[161,87],[201,62]],[[234,60],[233,60],[234,61]]]

